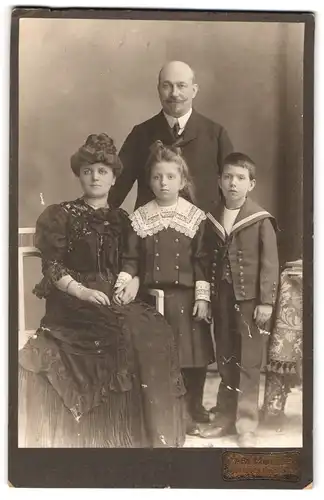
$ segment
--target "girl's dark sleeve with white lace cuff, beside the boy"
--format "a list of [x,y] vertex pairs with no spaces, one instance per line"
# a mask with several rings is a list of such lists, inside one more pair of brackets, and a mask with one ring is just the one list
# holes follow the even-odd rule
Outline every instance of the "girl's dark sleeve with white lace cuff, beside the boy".
[[208,281],[208,254],[205,245],[206,221],[203,220],[193,239],[193,259],[195,276],[195,299],[210,301],[210,283]]

